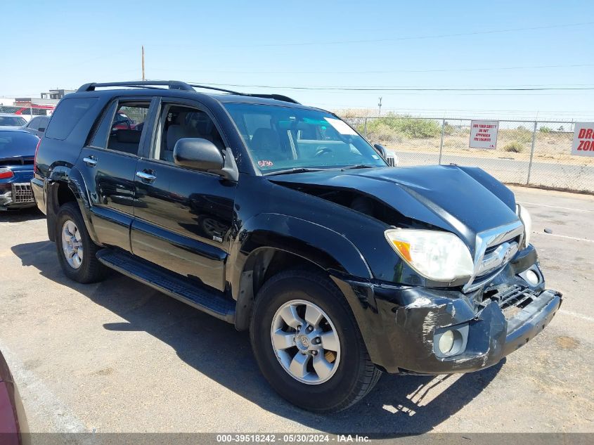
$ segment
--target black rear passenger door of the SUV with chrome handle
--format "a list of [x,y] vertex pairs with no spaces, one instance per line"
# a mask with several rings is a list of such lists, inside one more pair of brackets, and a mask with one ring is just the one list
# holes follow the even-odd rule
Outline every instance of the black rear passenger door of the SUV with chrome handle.
[[77,167],[84,177],[93,204],[93,228],[98,240],[131,251],[129,231],[134,219],[134,174],[146,138],[143,125],[121,129],[117,113],[134,115],[144,122],[150,98],[121,98],[107,105],[82,149]]

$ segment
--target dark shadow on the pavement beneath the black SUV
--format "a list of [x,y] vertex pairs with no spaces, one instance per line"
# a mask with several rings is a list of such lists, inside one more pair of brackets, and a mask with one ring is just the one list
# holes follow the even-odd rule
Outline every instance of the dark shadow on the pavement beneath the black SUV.
[[[302,411],[281,399],[259,373],[247,333],[233,325],[191,309],[120,273],[102,283],[81,285],[68,280],[49,241],[15,245],[12,251],[23,266],[89,297],[126,320],[106,323],[105,329],[145,331],[172,347],[179,358],[200,373],[263,409],[307,427],[333,434],[365,433],[395,437],[428,432],[460,411],[498,374],[503,364],[466,375],[383,375],[363,401],[332,415]],[[212,354],[217,344],[218,354]],[[209,360],[204,360],[209,356]],[[205,408],[208,409],[208,408]]]

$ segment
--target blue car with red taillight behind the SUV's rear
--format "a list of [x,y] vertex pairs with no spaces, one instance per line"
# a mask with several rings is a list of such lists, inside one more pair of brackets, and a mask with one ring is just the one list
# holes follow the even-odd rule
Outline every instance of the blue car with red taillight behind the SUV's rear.
[[0,211],[34,207],[30,181],[39,138],[20,129],[0,129]]

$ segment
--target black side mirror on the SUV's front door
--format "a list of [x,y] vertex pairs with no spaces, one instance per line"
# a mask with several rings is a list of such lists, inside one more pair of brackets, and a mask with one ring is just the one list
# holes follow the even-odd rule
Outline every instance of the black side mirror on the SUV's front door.
[[195,170],[220,170],[224,167],[221,151],[211,141],[202,138],[181,138],[173,148],[176,165]]

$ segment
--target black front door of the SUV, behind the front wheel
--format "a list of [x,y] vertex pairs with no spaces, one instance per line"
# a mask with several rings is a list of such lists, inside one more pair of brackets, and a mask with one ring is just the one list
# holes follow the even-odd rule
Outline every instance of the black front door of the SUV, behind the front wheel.
[[224,290],[235,183],[179,167],[173,159],[181,138],[208,139],[222,153],[224,140],[198,103],[164,101],[157,116],[148,157],[136,165],[132,252]]

